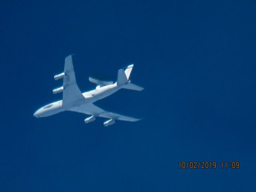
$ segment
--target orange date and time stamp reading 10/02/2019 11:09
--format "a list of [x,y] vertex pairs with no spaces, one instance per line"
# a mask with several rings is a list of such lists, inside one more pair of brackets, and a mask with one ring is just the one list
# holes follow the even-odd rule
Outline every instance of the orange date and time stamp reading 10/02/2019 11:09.
[[217,163],[215,161],[213,162],[179,162],[179,168],[180,169],[216,169],[217,167],[220,167],[222,169],[232,168],[232,169],[238,169],[240,168],[240,162],[220,162]]

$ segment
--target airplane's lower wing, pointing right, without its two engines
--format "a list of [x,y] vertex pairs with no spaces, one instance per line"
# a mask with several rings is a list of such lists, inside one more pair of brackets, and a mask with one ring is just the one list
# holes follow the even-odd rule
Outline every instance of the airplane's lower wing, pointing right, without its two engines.
[[132,118],[132,117],[105,111],[105,110],[95,106],[94,104],[88,104],[88,105],[72,108],[71,111],[84,113],[87,115],[94,115],[95,117],[98,116],[98,117],[114,119],[114,120],[132,121],[132,122],[140,120],[140,119],[136,119],[136,118]]

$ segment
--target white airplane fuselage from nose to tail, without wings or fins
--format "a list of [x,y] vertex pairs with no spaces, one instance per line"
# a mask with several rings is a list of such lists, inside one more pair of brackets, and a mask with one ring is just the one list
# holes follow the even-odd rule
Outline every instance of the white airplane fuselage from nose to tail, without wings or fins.
[[72,108],[80,107],[80,106],[86,106],[88,104],[92,104],[98,100],[101,100],[107,96],[112,95],[116,91],[120,90],[122,86],[118,86],[117,83],[107,85],[107,86],[97,86],[96,89],[84,92],[82,95],[84,96],[84,100],[78,100],[77,102],[74,102],[72,104],[68,104],[63,106],[62,100],[58,100],[56,102],[52,102],[50,104],[47,104],[46,106],[43,106],[42,108],[38,109],[34,113],[34,117],[40,118],[40,117],[47,117],[51,116],[66,110],[71,110]]

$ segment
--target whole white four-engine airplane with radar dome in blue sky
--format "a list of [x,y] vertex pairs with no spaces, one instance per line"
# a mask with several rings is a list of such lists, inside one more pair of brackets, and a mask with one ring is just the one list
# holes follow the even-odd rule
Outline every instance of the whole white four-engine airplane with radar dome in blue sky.
[[131,64],[125,70],[118,70],[118,77],[115,83],[112,81],[101,81],[89,77],[89,81],[97,84],[97,86],[94,90],[82,93],[76,84],[72,55],[67,56],[65,58],[64,72],[54,76],[54,80],[63,78],[63,85],[60,88],[52,90],[53,94],[62,92],[62,100],[52,102],[38,109],[34,113],[34,117],[47,117],[59,112],[73,111],[90,115],[84,120],[85,123],[96,120],[96,117],[108,118],[108,120],[104,122],[104,126],[112,125],[116,120],[131,122],[140,120],[105,111],[93,104],[94,102],[110,96],[122,88],[137,91],[143,90],[144,88],[132,84],[129,80],[133,66],[134,65]]

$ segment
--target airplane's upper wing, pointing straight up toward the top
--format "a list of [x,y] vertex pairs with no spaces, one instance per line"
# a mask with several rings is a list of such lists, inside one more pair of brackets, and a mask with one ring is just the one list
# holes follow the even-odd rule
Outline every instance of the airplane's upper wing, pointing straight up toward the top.
[[63,78],[63,106],[84,100],[82,92],[76,84],[76,76],[74,73],[72,55],[65,58],[64,66],[65,76]]

